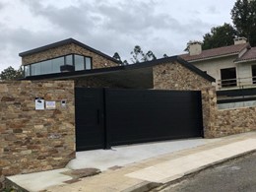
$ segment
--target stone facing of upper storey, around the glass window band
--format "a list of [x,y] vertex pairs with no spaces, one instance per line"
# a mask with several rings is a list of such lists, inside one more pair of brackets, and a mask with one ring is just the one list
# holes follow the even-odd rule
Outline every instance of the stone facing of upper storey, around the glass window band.
[[60,57],[60,56],[64,56],[64,55],[68,55],[68,54],[72,54],[72,53],[92,57],[94,69],[113,67],[113,66],[118,65],[117,63],[115,63],[99,54],[96,54],[93,51],[87,50],[77,44],[74,44],[74,43],[59,46],[56,48],[51,48],[46,51],[34,53],[32,55],[24,56],[22,58],[22,63],[23,63],[23,65],[28,65],[28,64],[32,64],[32,63],[36,63],[39,61],[52,59],[55,57]]

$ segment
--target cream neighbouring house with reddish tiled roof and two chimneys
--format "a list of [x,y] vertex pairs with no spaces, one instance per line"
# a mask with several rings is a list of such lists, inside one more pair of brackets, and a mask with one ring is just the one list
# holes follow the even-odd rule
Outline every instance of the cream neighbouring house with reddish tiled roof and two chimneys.
[[246,38],[234,38],[234,44],[202,50],[201,42],[190,41],[189,53],[179,55],[217,80],[217,89],[249,88],[256,84],[256,47]]

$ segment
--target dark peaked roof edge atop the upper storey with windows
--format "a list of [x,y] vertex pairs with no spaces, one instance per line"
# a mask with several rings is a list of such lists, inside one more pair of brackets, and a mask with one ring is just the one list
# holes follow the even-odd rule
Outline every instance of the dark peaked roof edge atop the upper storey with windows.
[[45,46],[34,48],[32,50],[21,52],[21,53],[19,53],[19,56],[21,56],[21,57],[29,56],[29,55],[32,55],[34,53],[42,52],[42,51],[45,51],[45,50],[48,50],[48,49],[51,49],[51,48],[56,48],[56,47],[63,46],[63,45],[66,45],[66,44],[71,44],[71,43],[77,44],[77,45],[79,45],[79,46],[81,46],[85,49],[88,49],[92,52],[95,52],[96,54],[101,55],[102,57],[105,57],[106,59],[111,60],[115,63],[120,63],[120,61],[118,61],[118,60],[116,60],[116,59],[114,59],[114,58],[112,58],[112,57],[94,49],[93,47],[88,46],[88,45],[74,39],[74,38],[67,38],[65,40],[61,40],[61,41],[54,42],[54,43],[51,43],[51,44],[48,44],[48,45],[45,45]]

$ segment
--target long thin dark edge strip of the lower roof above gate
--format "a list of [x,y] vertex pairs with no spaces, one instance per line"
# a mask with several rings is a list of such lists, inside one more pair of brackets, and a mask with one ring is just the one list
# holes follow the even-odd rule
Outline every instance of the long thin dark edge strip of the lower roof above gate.
[[92,70],[47,74],[47,75],[39,75],[39,76],[30,76],[25,78],[24,80],[70,79],[74,77],[85,77],[85,76],[93,76],[93,75],[113,73],[113,72],[126,71],[126,70],[149,68],[149,67],[154,67],[160,64],[175,62],[175,61],[177,61],[182,66],[186,67],[187,69],[193,71],[194,73],[200,75],[201,77],[205,78],[210,82],[216,81],[213,77],[209,76],[208,74],[204,73],[200,69],[196,68],[194,65],[188,63],[187,61],[183,60],[178,56],[161,58],[161,59],[146,61],[143,63],[125,65],[125,66],[107,67],[107,68],[99,68],[99,69],[92,69]]

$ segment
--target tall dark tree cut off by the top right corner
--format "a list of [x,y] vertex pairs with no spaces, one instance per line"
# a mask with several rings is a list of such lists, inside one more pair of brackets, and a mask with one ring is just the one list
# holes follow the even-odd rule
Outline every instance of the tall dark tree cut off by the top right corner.
[[237,0],[231,9],[231,19],[239,36],[245,36],[256,46],[256,1]]

